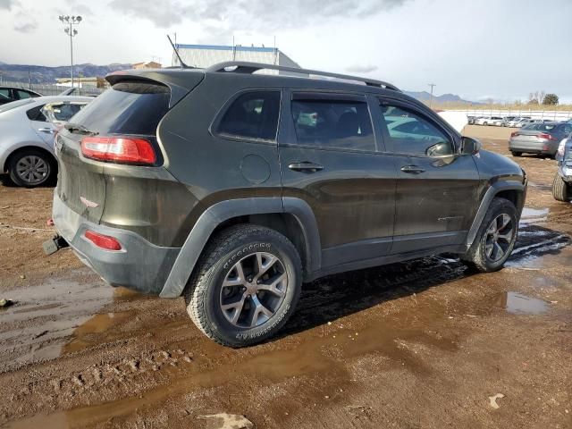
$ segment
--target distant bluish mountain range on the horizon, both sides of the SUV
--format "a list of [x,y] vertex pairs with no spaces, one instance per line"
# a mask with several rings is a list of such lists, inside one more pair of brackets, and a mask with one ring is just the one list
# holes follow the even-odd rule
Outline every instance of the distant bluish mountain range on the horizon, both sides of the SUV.
[[[109,65],[95,65],[91,63],[76,64],[73,66],[75,76],[105,76],[107,73],[118,70],[130,69],[129,63],[113,63]],[[2,80],[14,82],[31,83],[55,83],[58,78],[67,78],[70,76],[70,66],[61,65],[57,67],[47,67],[44,65],[22,65],[8,64],[0,62],[0,76]],[[431,94],[427,91],[404,91],[408,96],[414,97],[419,101],[429,102]],[[472,101],[467,101],[455,94],[442,94],[441,96],[433,96],[435,104],[458,103],[478,105]]]

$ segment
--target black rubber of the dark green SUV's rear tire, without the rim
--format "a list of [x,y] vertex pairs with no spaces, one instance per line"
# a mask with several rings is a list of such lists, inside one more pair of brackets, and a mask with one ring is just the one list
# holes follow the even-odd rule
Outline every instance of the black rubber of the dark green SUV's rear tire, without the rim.
[[[239,326],[229,320],[229,313],[224,313],[227,310],[223,310],[223,299],[226,299],[223,298],[225,293],[223,282],[229,278],[231,273],[234,273],[233,270],[237,264],[240,264],[242,269],[241,261],[248,260],[251,257],[248,255],[254,255],[256,259],[256,252],[264,252],[265,255],[269,254],[278,258],[282,274],[286,273],[287,276],[287,286],[283,291],[283,298],[279,298],[277,307],[274,308],[273,315],[254,327]],[[245,280],[250,275],[247,271],[248,266],[244,269]],[[254,287],[254,283],[248,284]],[[298,303],[301,284],[302,265],[298,251],[290,240],[269,228],[241,224],[219,232],[209,241],[203,256],[191,274],[184,295],[187,312],[198,329],[220,344],[238,348],[265,341],[282,328]],[[229,288],[229,286],[225,287]],[[256,316],[256,322],[252,323],[257,323],[260,314],[255,309],[258,307],[253,307],[254,299],[260,299],[258,303],[262,302],[266,296],[265,292],[263,291],[263,296],[260,298],[258,295],[260,291],[248,295],[246,288],[242,286],[236,286],[236,288],[239,290],[233,290],[232,293],[239,298],[242,296],[239,300],[243,303],[240,310],[237,308],[236,311],[242,314],[245,311],[243,306],[248,303],[245,315],[248,316],[248,313],[251,315],[251,322]]]

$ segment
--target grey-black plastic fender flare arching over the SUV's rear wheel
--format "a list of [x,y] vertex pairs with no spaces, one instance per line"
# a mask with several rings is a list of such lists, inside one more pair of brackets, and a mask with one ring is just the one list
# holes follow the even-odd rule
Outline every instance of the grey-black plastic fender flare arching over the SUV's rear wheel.
[[198,258],[218,225],[237,216],[272,213],[288,213],[297,219],[306,243],[308,271],[317,271],[321,265],[322,248],[314,212],[306,201],[281,197],[229,199],[208,207],[199,216],[176,257],[159,296],[181,296]]

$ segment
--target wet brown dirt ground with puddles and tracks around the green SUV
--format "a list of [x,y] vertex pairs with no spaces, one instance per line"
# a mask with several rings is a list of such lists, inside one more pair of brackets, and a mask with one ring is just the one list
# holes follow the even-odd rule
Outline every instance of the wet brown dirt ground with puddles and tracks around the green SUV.
[[[509,132],[466,130],[507,156]],[[572,205],[551,197],[553,160],[514,159],[529,189],[501,272],[427,257],[330,276],[248,349],[207,340],[181,299],[43,256],[53,189],[4,179],[0,299],[16,304],[0,309],[0,427],[218,428],[219,413],[257,428],[572,427]]]

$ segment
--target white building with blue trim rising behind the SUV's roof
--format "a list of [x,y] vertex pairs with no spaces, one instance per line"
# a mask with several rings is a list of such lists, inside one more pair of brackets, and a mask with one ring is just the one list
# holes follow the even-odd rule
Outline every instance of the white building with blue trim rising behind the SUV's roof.
[[[206,68],[225,61],[248,61],[250,63],[276,64],[299,68],[288,55],[280,49],[265,46],[219,46],[219,45],[176,45],[183,63],[193,67]],[[180,65],[173,53],[172,65]],[[268,74],[289,74],[278,71],[262,71]]]

